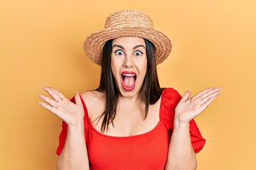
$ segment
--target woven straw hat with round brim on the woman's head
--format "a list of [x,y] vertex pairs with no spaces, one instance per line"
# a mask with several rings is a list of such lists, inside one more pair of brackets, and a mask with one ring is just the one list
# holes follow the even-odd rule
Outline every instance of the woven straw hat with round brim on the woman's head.
[[154,30],[153,21],[145,13],[134,10],[118,11],[107,17],[105,29],[89,35],[84,43],[87,57],[102,64],[105,42],[114,38],[138,37],[151,41],[156,47],[156,64],[164,62],[171,52],[171,41],[163,33]]

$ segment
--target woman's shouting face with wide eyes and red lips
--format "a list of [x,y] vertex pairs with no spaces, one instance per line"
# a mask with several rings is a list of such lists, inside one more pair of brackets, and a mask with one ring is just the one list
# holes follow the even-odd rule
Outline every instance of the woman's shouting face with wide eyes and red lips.
[[139,94],[146,75],[146,44],[142,38],[117,38],[112,42],[111,68],[119,93]]

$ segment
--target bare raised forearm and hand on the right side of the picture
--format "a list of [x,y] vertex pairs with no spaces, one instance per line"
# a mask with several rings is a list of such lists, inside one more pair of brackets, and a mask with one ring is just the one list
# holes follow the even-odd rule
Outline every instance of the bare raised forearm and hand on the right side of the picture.
[[203,112],[220,91],[220,88],[209,88],[192,98],[189,98],[191,91],[187,91],[181,98],[175,108],[174,132],[171,135],[166,169],[196,169],[196,154],[191,145],[189,122]]

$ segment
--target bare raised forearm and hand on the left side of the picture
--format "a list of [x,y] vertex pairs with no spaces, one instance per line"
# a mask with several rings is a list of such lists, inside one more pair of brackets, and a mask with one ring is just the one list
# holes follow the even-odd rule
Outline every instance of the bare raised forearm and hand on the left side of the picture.
[[58,159],[57,169],[90,169],[85,145],[84,111],[79,94],[75,94],[75,103],[72,103],[63,94],[53,88],[44,86],[43,89],[53,99],[42,94],[38,95],[48,103],[40,102],[41,106],[58,115],[68,125],[68,134],[65,146]]

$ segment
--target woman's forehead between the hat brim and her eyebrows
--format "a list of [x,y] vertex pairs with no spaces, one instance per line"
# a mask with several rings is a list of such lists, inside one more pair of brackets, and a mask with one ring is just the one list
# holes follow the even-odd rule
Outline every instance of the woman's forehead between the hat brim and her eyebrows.
[[112,42],[112,45],[122,45],[122,46],[135,46],[135,45],[144,45],[145,41],[143,38],[135,38],[135,37],[124,37],[124,38],[115,38]]

